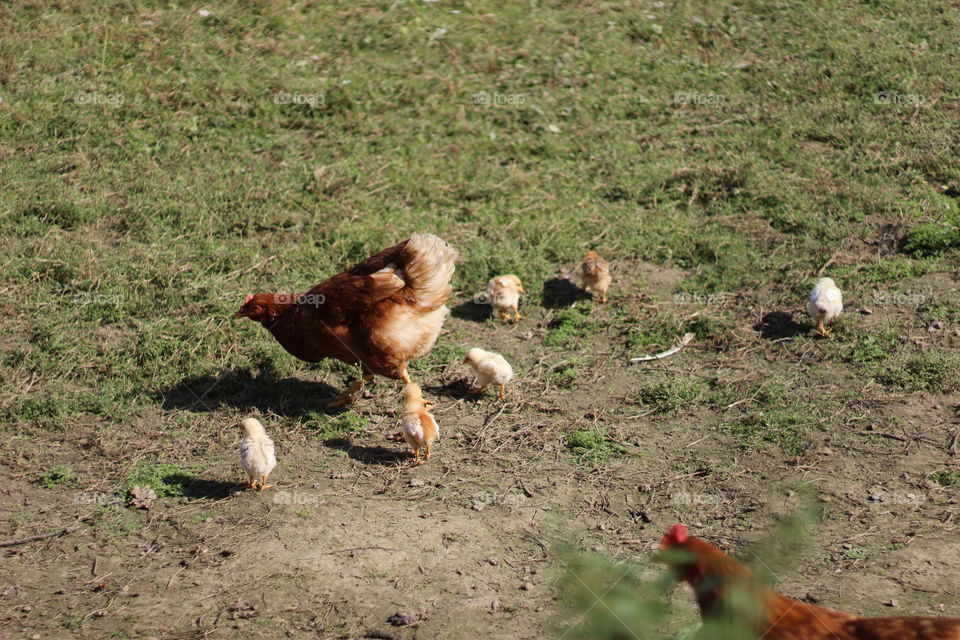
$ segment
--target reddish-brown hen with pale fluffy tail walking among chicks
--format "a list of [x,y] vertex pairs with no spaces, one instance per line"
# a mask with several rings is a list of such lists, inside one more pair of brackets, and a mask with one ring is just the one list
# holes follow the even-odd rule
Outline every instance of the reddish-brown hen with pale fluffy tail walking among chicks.
[[415,233],[305,294],[250,294],[235,318],[259,322],[292,355],[359,364],[362,377],[330,406],[348,404],[374,374],[410,382],[407,362],[427,354],[450,313],[457,252]]

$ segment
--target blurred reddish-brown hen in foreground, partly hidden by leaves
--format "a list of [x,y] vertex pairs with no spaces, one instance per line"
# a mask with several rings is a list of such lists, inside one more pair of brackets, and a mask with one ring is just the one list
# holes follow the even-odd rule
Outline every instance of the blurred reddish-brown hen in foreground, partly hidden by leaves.
[[960,640],[960,618],[859,618],[775,593],[750,569],[682,524],[660,542],[663,561],[693,587],[700,615],[750,640]]

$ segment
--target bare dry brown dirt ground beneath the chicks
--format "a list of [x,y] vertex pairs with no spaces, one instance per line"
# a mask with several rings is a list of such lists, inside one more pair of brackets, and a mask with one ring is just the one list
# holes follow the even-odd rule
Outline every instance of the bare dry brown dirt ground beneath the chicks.
[[[191,382],[202,400],[164,390],[154,415],[122,430],[91,422],[47,442],[11,443],[23,460],[71,461],[77,478],[43,488],[26,463],[4,468],[3,520],[20,525],[3,537],[88,519],[63,536],[0,549],[0,637],[562,635],[577,616],[556,602],[553,542],[643,557],[683,521],[742,549],[798,506],[801,485],[817,497],[823,524],[815,550],[780,574],[782,591],[869,615],[960,616],[957,489],[934,475],[960,469],[957,396],[885,387],[838,355],[871,326],[900,323],[902,340],[920,350],[951,344],[951,328],[928,327],[904,305],[868,304],[862,291],[834,335],[815,339],[792,293],[676,304],[682,272],[615,267],[610,304],[578,303],[589,324],[565,345],[545,343],[559,304],[528,300],[523,321],[504,325],[469,303],[472,292],[456,293],[438,349],[497,350],[517,380],[503,402],[474,399],[459,357],[421,366],[415,379],[438,401],[442,435],[420,467],[385,437],[398,420],[392,381],[378,381],[351,410],[364,419],[360,432],[324,440],[309,421],[289,420],[320,411],[327,385],[343,386],[344,376],[324,370],[274,381],[270,395],[258,393],[256,375],[219,389]],[[934,273],[911,286],[950,299],[953,283]],[[563,293],[563,280],[556,284]],[[858,313],[864,307],[872,313]],[[712,336],[669,360],[629,363],[638,355],[631,327],[672,327],[666,348],[691,317],[712,312],[722,316]],[[272,339],[253,323],[230,330]],[[667,389],[669,400],[678,384],[692,389],[678,406],[638,396]],[[764,400],[767,385],[788,399]],[[806,421],[800,436],[762,420],[784,411]],[[239,490],[236,424],[245,415],[259,416],[278,447],[275,487],[263,493]],[[731,426],[758,421],[770,431]],[[605,434],[609,455],[571,450],[577,429]],[[140,460],[195,467],[200,480],[149,510],[112,504]],[[688,590],[674,601],[677,625],[689,624]],[[388,622],[395,613],[409,624]]]

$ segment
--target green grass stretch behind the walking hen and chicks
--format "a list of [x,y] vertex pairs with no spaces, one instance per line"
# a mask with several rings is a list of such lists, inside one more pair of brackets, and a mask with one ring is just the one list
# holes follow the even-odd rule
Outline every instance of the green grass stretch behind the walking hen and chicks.
[[[707,293],[821,265],[875,220],[906,226],[910,255],[956,244],[941,185],[960,163],[938,101],[955,94],[957,20],[926,4],[706,3],[653,21],[492,2],[59,6],[10,13],[0,47],[31,70],[4,65],[0,123],[2,273],[8,300],[33,301],[5,321],[5,386],[36,377],[0,398],[14,423],[122,424],[154,403],[144,390],[260,362],[302,372],[228,320],[243,296],[415,229],[460,248],[469,292],[508,271],[536,291],[601,234],[609,257],[687,269],[680,289]],[[577,46],[547,60],[574,26]],[[878,92],[923,96],[924,126]],[[926,264],[882,260],[870,277]],[[546,343],[582,339],[589,315],[562,312]],[[636,331],[631,348],[675,334]]]

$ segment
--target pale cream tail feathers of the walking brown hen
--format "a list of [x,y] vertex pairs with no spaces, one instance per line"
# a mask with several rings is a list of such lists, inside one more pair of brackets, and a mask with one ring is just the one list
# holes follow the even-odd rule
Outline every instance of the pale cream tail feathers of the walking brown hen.
[[456,268],[457,251],[430,233],[410,236],[406,250],[410,260],[403,265],[403,273],[412,301],[422,307],[440,307],[452,291],[450,278]]

